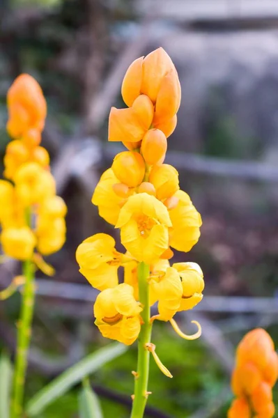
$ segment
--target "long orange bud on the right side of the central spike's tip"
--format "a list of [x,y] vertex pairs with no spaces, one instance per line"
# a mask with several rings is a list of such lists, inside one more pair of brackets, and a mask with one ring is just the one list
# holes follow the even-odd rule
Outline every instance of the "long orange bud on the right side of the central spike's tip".
[[176,115],[180,107],[181,90],[176,69],[165,75],[155,104],[155,121],[163,121]]

